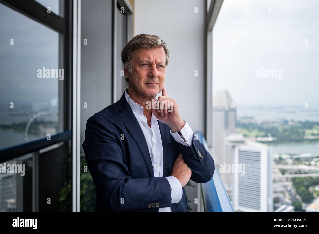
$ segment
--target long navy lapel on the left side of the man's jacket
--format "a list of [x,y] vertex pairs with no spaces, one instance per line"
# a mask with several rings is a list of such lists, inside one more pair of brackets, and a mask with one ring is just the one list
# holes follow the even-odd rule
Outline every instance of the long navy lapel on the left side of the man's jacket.
[[[124,91],[125,93],[125,91]],[[154,177],[154,171],[152,166],[152,160],[150,152],[148,151],[147,143],[144,138],[144,134],[139,126],[137,119],[130,108],[129,103],[125,99],[125,95],[122,95],[121,99],[118,101],[118,110],[121,110],[118,115],[121,117],[123,123],[125,124],[126,128],[134,138],[142,156],[145,161],[145,165],[147,167],[147,171],[150,177]],[[132,152],[134,155],[134,152]]]

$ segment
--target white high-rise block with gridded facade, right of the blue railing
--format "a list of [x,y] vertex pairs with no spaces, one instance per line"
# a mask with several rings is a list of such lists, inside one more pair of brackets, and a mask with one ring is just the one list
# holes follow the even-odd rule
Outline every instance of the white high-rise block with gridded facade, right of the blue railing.
[[273,212],[272,147],[242,135],[231,135],[228,145],[234,155],[233,207],[244,212]]

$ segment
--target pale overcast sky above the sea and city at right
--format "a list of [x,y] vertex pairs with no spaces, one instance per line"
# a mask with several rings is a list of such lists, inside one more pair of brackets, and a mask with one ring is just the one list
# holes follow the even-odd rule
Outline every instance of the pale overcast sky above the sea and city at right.
[[[242,105],[319,107],[318,9],[317,0],[224,0],[213,28],[213,93],[227,89]],[[282,80],[257,78],[262,67],[282,69]]]

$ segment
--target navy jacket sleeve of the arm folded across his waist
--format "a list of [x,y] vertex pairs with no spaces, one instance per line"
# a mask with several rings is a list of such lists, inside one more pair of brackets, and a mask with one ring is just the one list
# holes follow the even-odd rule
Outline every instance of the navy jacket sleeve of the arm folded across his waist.
[[[172,207],[168,180],[165,177],[131,178],[114,131],[99,117],[93,115],[87,120],[82,147],[99,200],[102,199],[108,209]],[[159,207],[149,208],[152,203],[159,203]]]

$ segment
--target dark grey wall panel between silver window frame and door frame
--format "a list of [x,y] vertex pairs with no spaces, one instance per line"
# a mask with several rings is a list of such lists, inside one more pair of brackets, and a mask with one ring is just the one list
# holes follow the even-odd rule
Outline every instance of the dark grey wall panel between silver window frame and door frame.
[[[81,1],[81,151],[86,121],[112,104],[112,2]],[[103,29],[103,30],[101,30]],[[87,45],[84,45],[87,39]],[[83,108],[87,103],[87,109]]]

